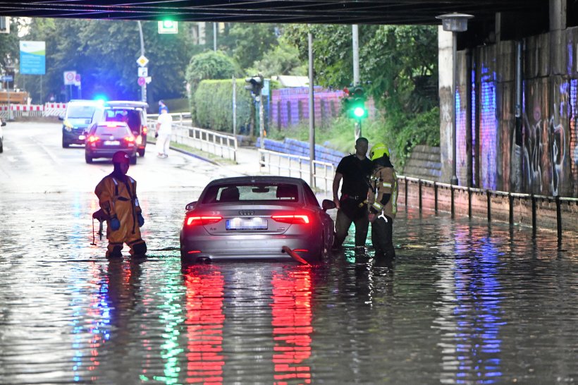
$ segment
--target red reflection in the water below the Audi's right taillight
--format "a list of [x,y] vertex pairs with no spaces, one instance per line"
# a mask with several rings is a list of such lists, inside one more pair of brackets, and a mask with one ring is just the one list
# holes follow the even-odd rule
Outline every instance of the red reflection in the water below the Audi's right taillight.
[[[311,270],[274,274],[272,325],[275,384],[311,384]],[[292,381],[293,380],[293,381]]]

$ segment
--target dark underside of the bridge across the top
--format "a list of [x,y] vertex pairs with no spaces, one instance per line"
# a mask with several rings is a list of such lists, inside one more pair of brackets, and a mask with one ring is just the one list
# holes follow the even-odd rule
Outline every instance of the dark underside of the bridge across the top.
[[[496,12],[548,13],[544,0],[0,1],[0,16],[317,24],[438,24],[443,13],[493,20]],[[528,20],[527,20],[528,21]]]

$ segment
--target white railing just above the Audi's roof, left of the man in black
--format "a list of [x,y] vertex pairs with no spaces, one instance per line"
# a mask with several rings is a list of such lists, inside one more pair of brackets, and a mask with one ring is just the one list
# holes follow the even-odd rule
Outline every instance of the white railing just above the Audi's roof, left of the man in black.
[[329,191],[333,185],[335,166],[331,163],[316,160],[311,162],[309,157],[285,154],[283,152],[271,151],[269,149],[258,149],[258,152],[259,165],[261,167],[266,167],[269,173],[276,173],[280,176],[295,176],[297,178],[308,180],[313,169],[314,185],[312,185],[312,188]]

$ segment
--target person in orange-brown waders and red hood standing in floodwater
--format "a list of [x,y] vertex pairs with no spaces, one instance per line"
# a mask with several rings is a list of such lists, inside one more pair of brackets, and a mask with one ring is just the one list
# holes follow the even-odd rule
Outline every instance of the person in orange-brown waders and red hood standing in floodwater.
[[107,258],[122,257],[123,243],[130,247],[130,255],[135,257],[144,257],[147,252],[147,244],[140,238],[144,218],[138,204],[137,182],[126,175],[129,160],[126,152],[116,152],[112,158],[113,172],[94,189],[102,218],[106,219]]

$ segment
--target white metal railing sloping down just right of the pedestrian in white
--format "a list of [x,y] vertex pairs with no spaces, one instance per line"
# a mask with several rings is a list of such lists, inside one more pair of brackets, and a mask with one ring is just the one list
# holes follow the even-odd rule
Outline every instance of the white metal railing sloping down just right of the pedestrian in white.
[[[149,120],[149,127],[154,129],[156,121]],[[171,141],[237,161],[238,142],[233,135],[173,122]]]

